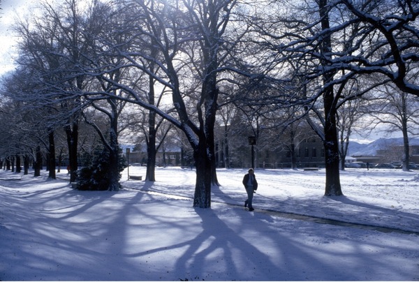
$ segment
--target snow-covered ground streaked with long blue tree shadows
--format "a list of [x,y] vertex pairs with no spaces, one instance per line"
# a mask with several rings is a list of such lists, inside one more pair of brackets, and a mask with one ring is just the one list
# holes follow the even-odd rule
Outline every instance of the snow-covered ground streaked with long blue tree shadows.
[[118,192],[76,191],[66,170],[1,170],[0,280],[419,279],[417,172],[348,169],[345,196],[323,197],[324,170],[256,170],[255,211],[246,172],[218,170],[212,208],[199,209],[190,169],[156,168],[154,183],[125,170]]

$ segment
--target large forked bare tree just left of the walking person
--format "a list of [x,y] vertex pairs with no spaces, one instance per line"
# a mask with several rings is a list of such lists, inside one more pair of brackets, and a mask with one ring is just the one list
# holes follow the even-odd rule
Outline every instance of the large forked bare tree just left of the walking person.
[[[133,17],[131,25],[137,46],[153,45],[158,48],[158,56],[150,56],[147,50],[131,45],[122,55],[128,62],[126,67],[137,68],[153,77],[161,87],[170,89],[171,109],[156,107],[148,99],[135,91],[130,83],[114,84],[131,95],[130,102],[152,110],[168,119],[182,130],[194,151],[196,163],[196,191],[194,207],[210,207],[211,185],[216,183],[214,160],[214,123],[216,118],[217,75],[219,55],[223,50],[223,34],[228,24],[231,10],[236,1],[126,1],[126,7]],[[114,51],[118,52],[115,47]],[[121,55],[121,54],[119,54]],[[225,52],[223,56],[228,56]],[[150,64],[153,62],[154,64]],[[193,62],[193,63],[190,63]],[[159,66],[156,73],[152,66]],[[184,72],[189,69],[199,79],[183,81]],[[188,92],[185,85],[199,82],[199,92]],[[158,87],[158,85],[156,85]],[[193,112],[187,104],[193,103]],[[168,112],[170,111],[170,112]]]

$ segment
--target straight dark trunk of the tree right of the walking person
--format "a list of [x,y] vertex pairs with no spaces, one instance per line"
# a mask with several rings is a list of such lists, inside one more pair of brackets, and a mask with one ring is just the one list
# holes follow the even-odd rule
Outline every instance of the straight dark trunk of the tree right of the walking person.
[[[332,40],[328,30],[330,29],[328,16],[328,0],[318,1],[319,12],[321,17],[321,29],[326,31],[323,41],[321,42],[321,54],[324,58],[323,66],[328,66],[332,50]],[[323,82],[327,85],[333,79],[333,73],[325,73]],[[325,195],[343,195],[340,184],[339,171],[339,146],[337,138],[337,124],[336,124],[336,101],[333,87],[328,86],[323,93],[323,106],[325,110],[325,140],[323,141],[325,147],[325,170],[326,170],[326,186]]]

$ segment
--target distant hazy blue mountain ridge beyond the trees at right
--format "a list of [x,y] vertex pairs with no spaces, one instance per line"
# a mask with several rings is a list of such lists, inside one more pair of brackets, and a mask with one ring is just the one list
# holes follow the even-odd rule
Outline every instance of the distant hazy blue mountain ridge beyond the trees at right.
[[[409,140],[410,145],[419,145],[419,138]],[[376,156],[377,150],[390,146],[402,146],[403,138],[380,138],[369,144],[349,142],[347,156]]]

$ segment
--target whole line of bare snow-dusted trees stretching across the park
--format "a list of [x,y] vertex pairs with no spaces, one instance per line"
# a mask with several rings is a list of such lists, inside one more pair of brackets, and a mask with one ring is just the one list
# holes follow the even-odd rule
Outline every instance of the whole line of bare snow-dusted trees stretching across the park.
[[[339,167],[357,124],[392,123],[409,148],[418,14],[412,0],[42,1],[15,24],[1,155],[31,158],[37,171],[42,147],[53,168],[61,139],[76,181],[80,144],[100,143],[106,188],[117,191],[121,135],[144,133],[154,181],[156,151],[176,131],[196,165],[193,206],[206,208],[219,185],[216,128],[226,140],[237,122],[256,140],[261,129],[286,133],[293,156],[305,124],[323,141],[325,195],[343,195]],[[87,126],[96,134],[80,135]]]

